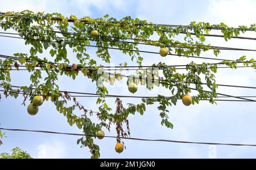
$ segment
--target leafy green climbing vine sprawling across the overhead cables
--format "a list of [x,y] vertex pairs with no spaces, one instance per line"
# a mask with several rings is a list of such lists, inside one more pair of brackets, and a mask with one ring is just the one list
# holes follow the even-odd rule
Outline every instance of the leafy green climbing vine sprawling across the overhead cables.
[[[215,74],[218,65],[226,65],[236,69],[237,63],[256,68],[254,59],[247,59],[242,56],[234,61],[221,61],[219,63],[201,63],[200,65],[191,62],[186,66],[186,73],[179,73],[175,66],[168,66],[165,63],[154,63],[147,71],[139,70],[134,75],[123,75],[121,71],[108,73],[98,65],[97,59],[108,64],[112,61],[109,50],[120,50],[130,57],[138,67],[142,67],[144,55],[139,49],[139,43],[159,47],[160,55],[176,54],[183,57],[200,56],[201,52],[211,50],[214,56],[218,56],[220,49],[205,44],[207,36],[212,29],[218,29],[226,41],[245,33],[247,29],[256,31],[256,25],[250,27],[240,26],[238,28],[228,27],[224,23],[210,25],[209,23],[191,22],[187,26],[170,27],[170,25],[157,25],[148,23],[146,20],[133,19],[126,16],[121,20],[110,18],[92,19],[88,16],[78,19],[71,15],[69,18],[53,13],[43,14],[32,11],[22,12],[1,12],[0,26],[4,31],[15,30],[19,37],[24,39],[24,44],[30,45],[30,52],[15,53],[11,57],[0,59],[0,81],[4,89],[5,97],[24,98],[34,103],[35,96],[42,96],[44,101],[51,101],[56,110],[67,117],[69,125],[76,125],[84,131],[85,137],[78,139],[77,144],[88,147],[92,158],[100,157],[100,148],[94,143],[98,131],[103,128],[110,131],[114,125],[117,131],[117,146],[115,150],[122,152],[124,143],[120,137],[129,137],[129,116],[130,114],[144,114],[147,105],[158,104],[161,124],[167,128],[174,128],[170,121],[170,107],[176,105],[178,99],[182,99],[191,92],[191,85],[195,84],[197,94],[191,101],[186,99],[184,103],[199,104],[200,100],[209,100],[214,104],[217,95],[217,84]],[[184,41],[175,40],[177,36],[183,35]],[[151,40],[152,35],[157,35],[159,40]],[[97,48],[96,55],[90,56],[88,48]],[[77,63],[71,64],[67,49],[72,49],[76,55]],[[39,57],[44,51],[49,50],[47,57]],[[45,54],[45,53],[44,53]],[[42,55],[41,55],[42,56]],[[127,63],[119,63],[120,67],[127,67]],[[11,70],[19,70],[24,67],[30,73],[30,84],[27,86],[14,86],[11,84]],[[38,69],[39,68],[39,69]],[[46,74],[42,74],[42,72]],[[160,73],[159,73],[160,71]],[[88,80],[96,85],[99,104],[98,111],[91,111],[67,91],[61,91],[56,83],[59,76],[69,76],[76,79],[78,74],[83,74]],[[162,86],[170,90],[171,97],[158,95],[142,99],[141,103],[127,103],[123,105],[122,100],[117,98],[116,108],[110,108],[107,103],[108,88],[104,83],[114,84],[127,78],[127,87],[130,92],[138,90],[138,84],[152,90],[155,86]],[[202,80],[204,79],[204,80]],[[207,82],[208,91],[204,89],[203,82]],[[132,84],[133,83],[133,84]],[[132,86],[131,86],[132,84]],[[1,100],[1,96],[0,96]],[[69,105],[73,103],[72,105]],[[76,114],[82,112],[81,116]],[[93,122],[92,117],[96,116],[99,123]],[[104,133],[103,133],[104,134]],[[102,135],[102,133],[101,133]],[[0,132],[0,137],[2,134]]]

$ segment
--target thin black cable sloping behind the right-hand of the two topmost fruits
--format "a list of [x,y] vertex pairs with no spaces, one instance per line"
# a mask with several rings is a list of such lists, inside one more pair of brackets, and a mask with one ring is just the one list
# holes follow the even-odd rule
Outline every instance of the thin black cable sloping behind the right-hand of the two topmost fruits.
[[[55,41],[48,41],[48,40],[39,40],[39,39],[28,39],[28,38],[23,38],[23,37],[14,37],[14,36],[2,36],[2,35],[0,35],[0,37],[8,37],[8,38],[14,38],[14,39],[23,39],[23,40],[55,42]],[[71,44],[72,45],[81,45],[81,44],[76,44],[76,43],[71,43]],[[97,46],[97,45],[84,45],[84,46],[95,47],[95,48],[114,49],[114,50],[126,50],[126,51],[130,51],[130,52],[139,52],[139,53],[159,54],[159,52],[148,52],[148,51],[145,51],[145,50],[131,50],[131,49],[113,48],[113,47]],[[196,56],[184,56],[184,55],[170,54],[170,53],[168,54],[168,56],[187,57],[187,58],[199,58],[199,59],[213,59],[213,60],[218,60],[218,61],[236,62],[236,61],[230,60],[230,59],[209,58],[209,57],[196,57]]]

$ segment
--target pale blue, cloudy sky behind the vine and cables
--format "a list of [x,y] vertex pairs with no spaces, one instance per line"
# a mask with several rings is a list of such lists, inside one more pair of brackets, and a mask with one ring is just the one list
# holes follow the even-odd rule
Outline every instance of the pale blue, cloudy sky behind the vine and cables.
[[[121,19],[131,16],[148,20],[159,24],[189,24],[192,21],[209,22],[211,24],[225,23],[229,26],[250,25],[255,23],[253,18],[256,1],[101,1],[101,0],[73,0],[73,1],[3,1],[0,0],[0,11],[45,11],[60,12],[65,16],[71,14],[78,17],[90,16],[91,18],[103,17],[109,14]],[[255,37],[255,33],[246,33],[245,36]],[[234,48],[251,48],[256,45],[252,40],[230,40],[225,42],[216,37],[210,37],[208,43],[218,46],[230,46]],[[24,45],[23,40],[0,38],[1,54],[12,55],[16,52],[29,52],[29,46]],[[142,47],[144,50],[154,51],[157,48]],[[96,49],[88,49],[91,56]],[[48,52],[44,54],[47,55]],[[117,65],[119,61],[126,61],[127,56],[118,51],[111,51],[112,63]],[[243,55],[254,58],[253,52],[221,52],[220,58],[237,59]],[[72,50],[68,50],[68,56],[75,57]],[[207,52],[202,56],[213,56]],[[180,57],[161,58],[155,54],[142,54],[144,65],[166,62],[167,64],[186,64],[193,59]],[[120,59],[121,58],[121,59]],[[75,62],[75,59],[72,59]],[[196,63],[204,61],[195,60]],[[210,61],[207,61],[210,62]],[[237,70],[218,70],[216,80],[218,84],[236,84],[239,86],[255,86],[255,70],[241,68]],[[13,73],[12,83],[17,86],[29,84],[29,74]],[[75,81],[67,77],[59,79],[61,90],[96,92],[96,87],[88,79],[79,76]],[[124,82],[123,82],[124,83]],[[155,88],[148,92],[146,88],[139,86],[136,95],[166,94],[162,88]],[[256,95],[254,90],[241,88],[219,87],[218,92],[238,95]],[[115,84],[109,87],[109,94],[130,95],[125,84]],[[171,93],[170,93],[171,94]],[[79,99],[86,108],[97,110],[94,99]],[[140,103],[140,99],[123,99],[123,103]],[[50,130],[69,133],[81,133],[75,126],[67,124],[66,118],[57,113],[51,102],[45,102],[40,107],[39,113],[32,117],[27,114],[26,107],[21,105],[22,98],[18,99],[2,97],[0,102],[0,127],[15,129]],[[114,108],[114,99],[108,99],[109,105]],[[256,106],[254,103],[218,102],[217,105],[201,101],[198,105],[184,107],[179,101],[177,106],[170,108],[170,120],[174,129],[167,129],[160,125],[157,105],[148,106],[144,116],[139,113],[130,116],[131,137],[148,139],[171,139],[193,142],[218,142],[218,143],[247,143],[255,144],[256,136]],[[113,128],[106,135],[115,135]],[[6,131],[7,138],[3,139],[4,145],[0,146],[0,152],[10,152],[18,146],[32,155],[33,158],[90,158],[88,148],[80,148],[76,144],[77,137],[66,135],[51,135],[38,133],[23,133]],[[127,150],[117,154],[114,150],[115,139],[95,140],[101,148],[101,158],[256,158],[255,147],[236,146],[211,146],[192,145],[163,142],[145,142],[125,140]]]

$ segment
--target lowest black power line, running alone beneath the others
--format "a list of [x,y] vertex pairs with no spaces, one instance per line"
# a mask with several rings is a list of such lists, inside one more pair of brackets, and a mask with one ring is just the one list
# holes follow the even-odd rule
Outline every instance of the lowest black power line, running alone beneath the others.
[[[73,136],[81,136],[81,137],[98,137],[97,135],[92,134],[77,134],[77,133],[63,133],[57,131],[44,131],[44,130],[25,130],[25,129],[6,129],[0,128],[0,130],[7,131],[24,131],[24,132],[33,132],[33,133],[47,133],[47,134],[61,134],[61,135],[73,135]],[[120,138],[127,139],[133,141],[148,141],[148,142],[171,142],[171,143],[187,143],[187,144],[199,144],[199,145],[226,145],[226,146],[251,146],[256,147],[256,145],[252,144],[240,144],[240,143],[212,143],[212,142],[190,142],[190,141],[174,141],[168,139],[143,139],[143,138],[125,138],[125,137],[113,137],[113,136],[105,136],[104,138]]]

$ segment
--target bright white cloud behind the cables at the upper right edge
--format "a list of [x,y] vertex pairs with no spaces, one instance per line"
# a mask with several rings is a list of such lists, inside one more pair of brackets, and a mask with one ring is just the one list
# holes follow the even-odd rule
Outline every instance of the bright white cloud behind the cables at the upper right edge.
[[[250,25],[255,22],[251,17],[254,16],[254,7],[256,1],[251,0],[217,0],[209,1],[208,14],[205,15],[203,21],[210,22],[211,24],[225,23],[229,26],[238,27],[238,25]],[[219,31],[218,34],[221,34]],[[247,32],[245,35],[255,37],[255,32]],[[256,43],[251,40],[229,40],[228,42],[220,38],[209,38],[208,41],[212,45],[217,46],[229,46],[233,48],[246,48],[246,49],[255,49]],[[247,59],[253,58],[254,53],[250,52],[234,52],[234,51],[222,51],[220,58],[227,59],[237,59],[241,56],[246,56]],[[250,86],[255,83],[254,79],[255,71],[251,68],[247,69],[222,69],[218,71],[216,80],[219,84],[238,84],[243,86]],[[220,88],[221,91],[226,93],[231,93],[233,95],[245,94],[246,91],[242,89],[237,89],[234,91],[234,88]]]

